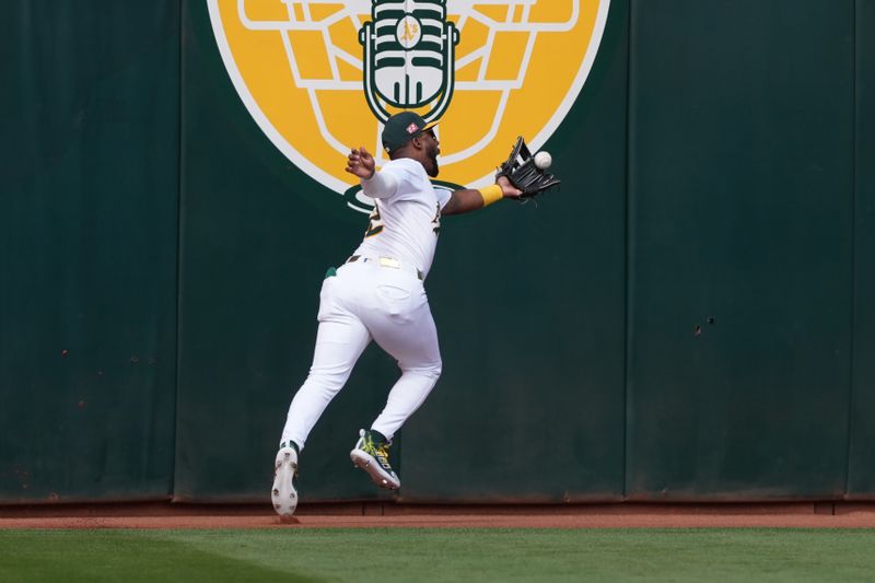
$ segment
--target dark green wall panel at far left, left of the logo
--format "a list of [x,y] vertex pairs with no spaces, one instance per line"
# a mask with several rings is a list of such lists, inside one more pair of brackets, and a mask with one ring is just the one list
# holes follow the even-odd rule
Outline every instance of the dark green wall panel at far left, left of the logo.
[[166,498],[178,7],[0,14],[0,502]]

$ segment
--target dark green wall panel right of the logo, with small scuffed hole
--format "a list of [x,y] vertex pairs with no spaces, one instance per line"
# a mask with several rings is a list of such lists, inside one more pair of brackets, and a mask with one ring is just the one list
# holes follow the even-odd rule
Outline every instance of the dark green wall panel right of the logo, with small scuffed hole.
[[632,2],[632,499],[844,489],[852,15]]

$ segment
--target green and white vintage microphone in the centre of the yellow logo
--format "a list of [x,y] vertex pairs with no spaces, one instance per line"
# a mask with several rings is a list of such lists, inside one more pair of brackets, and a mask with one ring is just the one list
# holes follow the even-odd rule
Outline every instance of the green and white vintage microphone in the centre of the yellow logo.
[[446,19],[446,0],[373,0],[370,22],[359,31],[364,96],[374,116],[389,107],[429,107],[439,119],[453,98],[458,28]]

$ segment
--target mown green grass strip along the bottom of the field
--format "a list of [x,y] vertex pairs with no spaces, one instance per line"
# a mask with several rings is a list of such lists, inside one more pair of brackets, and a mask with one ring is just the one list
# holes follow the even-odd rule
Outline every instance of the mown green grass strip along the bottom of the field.
[[875,530],[0,530],[0,581],[873,581]]

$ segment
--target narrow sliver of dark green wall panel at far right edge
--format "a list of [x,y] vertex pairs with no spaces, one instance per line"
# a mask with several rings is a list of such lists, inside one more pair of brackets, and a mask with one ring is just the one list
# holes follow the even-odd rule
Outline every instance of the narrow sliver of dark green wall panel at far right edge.
[[875,2],[856,2],[854,378],[848,492],[875,498]]

